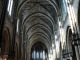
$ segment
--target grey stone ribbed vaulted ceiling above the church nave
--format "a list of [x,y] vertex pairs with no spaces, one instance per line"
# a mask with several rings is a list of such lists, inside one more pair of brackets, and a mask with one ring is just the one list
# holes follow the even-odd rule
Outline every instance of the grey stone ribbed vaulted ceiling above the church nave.
[[51,35],[57,26],[58,5],[55,0],[25,0],[18,8],[22,30],[28,40],[44,40],[51,43]]

